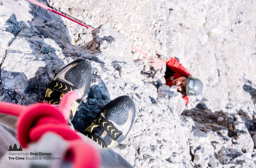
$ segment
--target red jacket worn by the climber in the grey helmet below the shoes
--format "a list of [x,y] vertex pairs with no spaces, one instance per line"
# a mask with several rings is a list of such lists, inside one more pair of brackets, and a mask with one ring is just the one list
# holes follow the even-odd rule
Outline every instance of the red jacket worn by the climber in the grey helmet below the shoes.
[[[168,61],[166,61],[166,66],[168,66],[173,72],[173,78],[177,79],[182,76],[190,76],[190,73],[186,68],[184,68],[180,61],[178,61],[176,58],[170,58]],[[172,86],[172,80],[171,77],[166,79],[166,85]],[[185,100],[185,103],[187,104],[189,102],[189,97],[184,96],[182,97]]]

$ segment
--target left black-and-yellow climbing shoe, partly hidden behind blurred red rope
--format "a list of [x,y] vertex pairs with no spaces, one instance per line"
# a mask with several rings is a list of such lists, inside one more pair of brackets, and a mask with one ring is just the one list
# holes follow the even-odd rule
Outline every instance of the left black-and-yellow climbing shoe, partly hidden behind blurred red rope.
[[[85,59],[77,59],[65,66],[47,87],[45,97],[40,102],[58,105],[63,96],[78,89],[83,97],[88,93],[92,79],[92,66]],[[82,97],[82,99],[83,99]],[[81,102],[78,99],[71,106],[70,120],[73,119],[76,109]]]

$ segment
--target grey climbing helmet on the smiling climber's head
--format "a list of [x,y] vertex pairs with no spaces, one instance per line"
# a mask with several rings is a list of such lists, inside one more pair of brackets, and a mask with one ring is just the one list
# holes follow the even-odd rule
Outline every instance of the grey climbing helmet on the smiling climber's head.
[[187,87],[186,87],[186,94],[195,96],[201,94],[203,91],[203,83],[192,76],[188,77]]

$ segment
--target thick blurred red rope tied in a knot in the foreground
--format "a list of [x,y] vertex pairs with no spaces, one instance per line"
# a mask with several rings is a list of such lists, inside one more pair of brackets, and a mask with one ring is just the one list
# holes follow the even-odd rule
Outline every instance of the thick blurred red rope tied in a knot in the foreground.
[[0,102],[0,113],[19,116],[17,133],[20,145],[26,148],[30,142],[36,142],[46,132],[54,132],[68,141],[69,150],[66,159],[73,161],[74,168],[100,167],[100,156],[96,149],[85,143],[68,127],[67,118],[73,101],[81,98],[77,92],[65,94],[60,106],[36,103],[30,106]]

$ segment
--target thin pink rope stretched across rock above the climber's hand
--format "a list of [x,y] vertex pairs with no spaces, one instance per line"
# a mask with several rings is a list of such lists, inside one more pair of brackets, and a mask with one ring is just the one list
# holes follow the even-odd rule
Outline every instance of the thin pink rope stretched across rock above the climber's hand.
[[[85,25],[85,24],[82,24],[81,22],[78,22],[77,20],[74,20],[74,19],[72,19],[71,17],[68,17],[68,16],[62,14],[62,13],[60,13],[60,12],[58,12],[58,11],[56,11],[56,10],[50,8],[49,6],[46,6],[46,5],[44,5],[44,4],[40,3],[40,2],[37,2],[36,0],[28,0],[28,1],[30,1],[30,2],[32,2],[32,3],[34,3],[34,4],[36,4],[36,5],[38,5],[38,6],[42,7],[42,8],[44,8],[44,9],[50,10],[51,12],[57,13],[58,15],[61,15],[61,16],[65,17],[65,18],[67,18],[67,19],[69,19],[69,20],[71,20],[71,21],[73,21],[73,22],[75,22],[75,23],[81,25],[81,26],[84,26],[84,27],[86,27],[87,29],[89,29],[89,30],[91,30],[91,31],[94,30],[94,28],[92,28],[92,27],[90,27],[90,26],[87,26],[87,25]],[[141,54],[145,55],[146,58],[148,58],[148,54],[146,54],[145,52],[143,52],[143,51],[141,51],[141,50],[139,50],[139,49],[137,49],[137,48],[135,48],[135,47],[133,47],[133,46],[131,46],[131,48],[134,49],[134,50],[136,50],[136,51],[138,51],[138,52],[140,52]]]

